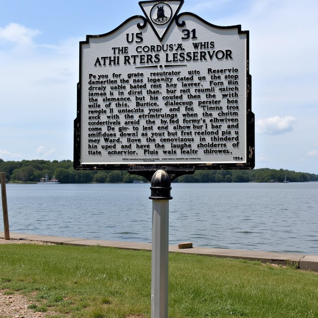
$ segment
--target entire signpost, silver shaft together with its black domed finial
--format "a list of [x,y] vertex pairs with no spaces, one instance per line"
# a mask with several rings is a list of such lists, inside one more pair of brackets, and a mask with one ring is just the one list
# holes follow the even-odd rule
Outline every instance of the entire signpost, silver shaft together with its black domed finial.
[[171,181],[158,170],[151,179],[151,318],[168,318],[169,200]]

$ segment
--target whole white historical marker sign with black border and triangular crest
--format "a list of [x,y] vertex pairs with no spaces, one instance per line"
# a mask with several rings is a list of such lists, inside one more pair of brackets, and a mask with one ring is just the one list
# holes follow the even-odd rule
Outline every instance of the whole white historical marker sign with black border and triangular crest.
[[252,169],[248,31],[139,4],[145,17],[80,42],[75,168]]

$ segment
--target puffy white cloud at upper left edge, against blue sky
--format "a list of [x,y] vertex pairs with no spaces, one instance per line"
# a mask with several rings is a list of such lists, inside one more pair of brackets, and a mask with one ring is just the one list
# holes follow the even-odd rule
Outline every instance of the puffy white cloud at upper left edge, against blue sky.
[[32,38],[41,32],[26,28],[24,25],[9,23],[0,28],[0,42],[12,42],[17,45],[31,45]]

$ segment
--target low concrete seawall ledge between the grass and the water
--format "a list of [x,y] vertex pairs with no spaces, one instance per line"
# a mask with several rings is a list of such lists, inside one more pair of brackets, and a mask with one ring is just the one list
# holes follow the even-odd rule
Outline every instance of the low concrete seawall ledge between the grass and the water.
[[[4,238],[4,232],[0,232],[0,238]],[[150,243],[133,243],[121,241],[106,241],[81,238],[68,238],[50,235],[36,235],[23,233],[10,233],[10,239],[28,239],[32,241],[43,241],[60,245],[90,246],[100,245],[106,247],[116,247],[129,250],[151,251]],[[258,260],[263,263],[274,263],[280,265],[295,264],[301,270],[311,270],[318,273],[318,255],[289,254],[275,252],[256,252],[245,250],[229,250],[221,248],[193,247],[178,249],[176,245],[169,245],[169,252],[186,254],[197,254],[205,256],[228,257],[235,259]]]

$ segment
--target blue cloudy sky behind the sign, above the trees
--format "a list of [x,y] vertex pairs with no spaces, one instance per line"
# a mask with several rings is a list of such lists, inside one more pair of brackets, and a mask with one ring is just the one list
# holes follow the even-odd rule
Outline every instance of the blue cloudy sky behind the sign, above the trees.
[[[142,15],[138,1],[0,0],[0,158],[73,160],[79,41]],[[255,168],[318,174],[318,1],[185,0],[250,31]]]

